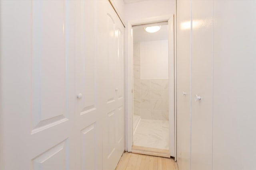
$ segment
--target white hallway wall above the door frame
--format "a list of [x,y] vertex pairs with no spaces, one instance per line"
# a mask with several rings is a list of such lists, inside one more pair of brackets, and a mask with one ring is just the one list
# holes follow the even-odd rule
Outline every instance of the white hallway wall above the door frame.
[[139,20],[175,13],[175,0],[146,0],[125,4],[125,19]]

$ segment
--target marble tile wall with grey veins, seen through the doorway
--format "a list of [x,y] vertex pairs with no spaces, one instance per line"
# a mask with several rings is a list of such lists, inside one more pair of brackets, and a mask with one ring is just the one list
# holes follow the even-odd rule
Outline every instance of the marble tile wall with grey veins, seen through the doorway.
[[134,114],[168,120],[168,79],[140,79],[140,43],[134,43],[133,57]]

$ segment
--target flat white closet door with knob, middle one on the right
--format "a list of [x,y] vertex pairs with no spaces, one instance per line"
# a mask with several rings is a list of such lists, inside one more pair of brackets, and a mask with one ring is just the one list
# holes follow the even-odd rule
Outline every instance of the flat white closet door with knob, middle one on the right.
[[212,169],[212,7],[192,1],[191,170]]

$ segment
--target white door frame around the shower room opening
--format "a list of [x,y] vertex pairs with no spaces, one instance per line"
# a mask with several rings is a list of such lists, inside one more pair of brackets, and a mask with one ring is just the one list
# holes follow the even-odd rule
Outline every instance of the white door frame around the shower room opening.
[[[152,18],[145,18],[141,20],[134,20],[127,22],[126,31],[126,151],[132,150],[132,115],[133,115],[133,101],[132,101],[132,64],[133,64],[133,33],[132,26],[142,25],[156,22],[168,21],[168,58],[169,58],[169,131],[170,137],[170,155],[176,160],[176,58],[174,55],[174,15],[158,16]],[[173,67],[171,67],[173,66]],[[170,69],[172,68],[172,69]],[[171,90],[172,89],[172,90]],[[171,97],[172,96],[172,97]]]

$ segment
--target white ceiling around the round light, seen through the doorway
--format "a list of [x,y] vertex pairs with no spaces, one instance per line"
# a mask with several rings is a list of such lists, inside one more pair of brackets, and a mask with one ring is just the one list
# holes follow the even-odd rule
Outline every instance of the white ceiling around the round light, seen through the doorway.
[[156,33],[148,33],[144,27],[147,25],[133,27],[133,42],[158,41],[168,39],[168,25],[161,25]]

